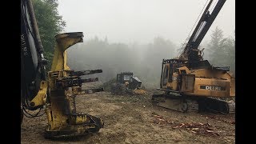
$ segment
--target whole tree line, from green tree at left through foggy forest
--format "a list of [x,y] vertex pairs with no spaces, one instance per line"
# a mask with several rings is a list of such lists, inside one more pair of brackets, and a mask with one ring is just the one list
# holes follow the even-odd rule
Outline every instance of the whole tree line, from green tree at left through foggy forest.
[[[57,0],[33,0],[39,33],[42,38],[50,70],[54,54],[54,36],[60,34],[66,22],[58,14]],[[209,31],[210,32],[210,31]],[[86,32],[84,32],[86,33]],[[230,66],[235,70],[235,39],[224,38],[223,30],[216,27],[211,33],[210,42],[204,47],[204,59],[214,66]],[[162,59],[175,58],[178,47],[169,39],[155,37],[147,44],[126,44],[108,42],[107,38],[84,38],[84,42],[71,46],[67,51],[68,65],[74,70],[102,69],[102,74],[95,74],[102,82],[116,78],[123,71],[134,72],[145,86],[158,87],[161,76]],[[92,77],[92,76],[90,76]]]

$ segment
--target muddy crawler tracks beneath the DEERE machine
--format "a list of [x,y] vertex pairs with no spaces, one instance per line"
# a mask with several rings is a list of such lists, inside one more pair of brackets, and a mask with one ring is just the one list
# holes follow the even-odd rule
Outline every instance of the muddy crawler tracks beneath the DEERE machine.
[[180,112],[210,111],[220,114],[234,114],[235,102],[218,98],[188,98],[170,94],[154,94],[152,101],[156,106]]

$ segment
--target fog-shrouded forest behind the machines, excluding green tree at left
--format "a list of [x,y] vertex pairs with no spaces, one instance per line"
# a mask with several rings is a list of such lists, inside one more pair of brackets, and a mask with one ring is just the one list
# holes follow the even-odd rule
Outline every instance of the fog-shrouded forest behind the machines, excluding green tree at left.
[[[235,70],[235,40],[224,38],[223,31],[218,27],[211,32],[210,42],[205,48],[204,59],[214,66],[230,66]],[[107,38],[84,38],[84,42],[72,46],[68,52],[68,64],[74,70],[102,69],[96,74],[100,81],[106,82],[116,78],[116,74],[130,71],[140,78],[147,87],[159,85],[162,59],[177,58],[182,47],[169,39],[155,37],[148,44],[110,43]]]

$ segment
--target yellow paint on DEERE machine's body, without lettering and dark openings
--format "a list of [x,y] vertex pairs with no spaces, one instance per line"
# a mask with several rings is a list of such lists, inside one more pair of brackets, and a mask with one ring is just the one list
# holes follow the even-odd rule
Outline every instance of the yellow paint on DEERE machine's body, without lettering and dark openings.
[[[170,68],[170,64],[166,63],[164,66]],[[221,70],[189,70],[186,66],[178,68],[178,72],[174,72],[172,75],[172,82],[167,82],[166,86],[162,86],[163,89],[179,91],[178,86],[178,74],[181,74],[181,70],[186,70],[186,74],[194,74],[194,92],[180,91],[186,95],[194,96],[206,96],[206,97],[234,97],[235,96],[235,78],[231,76],[229,72],[223,73]],[[162,78],[165,75],[163,74]],[[168,79],[170,74],[168,75]],[[162,82],[162,81],[161,81]],[[184,85],[186,86],[186,85]],[[202,90],[200,86],[222,86],[226,90]]]

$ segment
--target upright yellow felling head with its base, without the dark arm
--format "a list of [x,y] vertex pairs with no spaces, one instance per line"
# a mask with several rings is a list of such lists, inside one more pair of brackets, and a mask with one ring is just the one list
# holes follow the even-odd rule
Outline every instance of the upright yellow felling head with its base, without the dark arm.
[[[83,34],[65,33],[56,36],[54,58],[47,81],[42,81],[36,97],[30,102],[31,106],[46,105],[46,138],[61,138],[85,135],[97,132],[103,127],[100,118],[89,114],[76,114],[74,97],[81,94],[81,86],[67,86],[67,80],[80,80],[76,75],[70,76],[66,62],[66,50],[78,42],[82,42]],[[68,83],[68,82],[67,82]],[[48,94],[47,94],[48,93]]]

